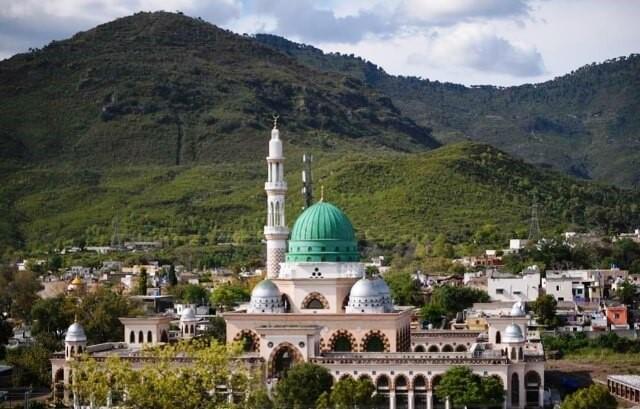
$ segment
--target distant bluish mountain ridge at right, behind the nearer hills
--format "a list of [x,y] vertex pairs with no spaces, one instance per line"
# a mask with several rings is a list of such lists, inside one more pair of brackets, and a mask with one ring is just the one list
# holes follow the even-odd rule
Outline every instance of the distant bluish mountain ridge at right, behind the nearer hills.
[[255,38],[309,67],[359,79],[442,143],[469,139],[580,178],[640,183],[640,54],[540,84],[466,87],[389,75],[359,57],[278,36]]

